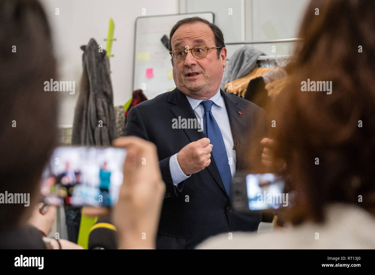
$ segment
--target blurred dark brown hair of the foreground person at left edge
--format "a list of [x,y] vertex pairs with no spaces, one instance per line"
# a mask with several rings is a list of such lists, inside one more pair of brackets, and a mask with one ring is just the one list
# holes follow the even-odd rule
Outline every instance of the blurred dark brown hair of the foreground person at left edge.
[[57,140],[57,95],[44,91],[44,82],[56,78],[56,63],[40,3],[1,1],[0,33],[0,193],[30,193],[31,201],[30,207],[1,204],[1,229],[15,226],[36,203]]

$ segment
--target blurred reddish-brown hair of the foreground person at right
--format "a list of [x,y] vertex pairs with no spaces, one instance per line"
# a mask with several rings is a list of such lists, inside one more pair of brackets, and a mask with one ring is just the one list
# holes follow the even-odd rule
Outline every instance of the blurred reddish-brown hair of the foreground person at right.
[[[375,1],[361,0],[312,1],[306,11],[291,82],[270,110],[275,153],[285,159],[297,191],[288,211],[295,224],[324,221],[332,202],[374,213],[374,15]],[[302,91],[308,79],[332,81],[332,94]]]

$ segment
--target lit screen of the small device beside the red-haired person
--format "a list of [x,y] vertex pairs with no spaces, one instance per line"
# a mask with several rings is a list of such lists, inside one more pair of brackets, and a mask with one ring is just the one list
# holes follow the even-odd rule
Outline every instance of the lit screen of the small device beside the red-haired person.
[[288,193],[281,177],[267,174],[246,175],[246,191],[250,210],[278,209],[288,206]]

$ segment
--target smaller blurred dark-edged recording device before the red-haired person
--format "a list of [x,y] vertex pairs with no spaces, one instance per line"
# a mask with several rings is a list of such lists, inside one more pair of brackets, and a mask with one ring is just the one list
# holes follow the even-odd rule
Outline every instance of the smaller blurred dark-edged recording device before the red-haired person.
[[233,178],[232,204],[239,211],[275,210],[290,205],[282,176],[238,172]]

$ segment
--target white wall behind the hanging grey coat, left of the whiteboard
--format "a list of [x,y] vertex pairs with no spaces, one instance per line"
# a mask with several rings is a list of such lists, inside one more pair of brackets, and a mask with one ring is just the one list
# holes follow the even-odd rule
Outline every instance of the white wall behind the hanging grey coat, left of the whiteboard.
[[[110,18],[115,23],[110,59],[114,105],[123,105],[132,96],[135,19],[146,15],[178,13],[178,0],[41,0],[54,35],[60,78],[74,80],[75,94],[61,93],[60,124],[71,125],[82,75],[81,45],[94,38],[105,49]],[[55,8],[60,15],[55,15]]]

